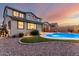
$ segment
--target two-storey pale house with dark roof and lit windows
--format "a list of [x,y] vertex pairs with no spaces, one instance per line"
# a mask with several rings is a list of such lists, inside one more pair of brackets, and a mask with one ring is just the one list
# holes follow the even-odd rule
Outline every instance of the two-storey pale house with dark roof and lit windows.
[[6,6],[3,13],[3,25],[8,30],[8,35],[13,36],[19,33],[27,35],[32,30],[42,31],[42,19],[32,12],[23,12]]

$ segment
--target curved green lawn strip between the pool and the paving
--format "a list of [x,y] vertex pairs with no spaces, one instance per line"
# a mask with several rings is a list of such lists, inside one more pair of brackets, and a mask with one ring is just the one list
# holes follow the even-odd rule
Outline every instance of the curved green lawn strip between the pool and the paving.
[[49,41],[79,43],[79,40],[46,39],[46,38],[42,38],[42,37],[38,37],[38,36],[21,39],[21,42],[23,42],[23,43],[39,43],[39,42],[49,42]]

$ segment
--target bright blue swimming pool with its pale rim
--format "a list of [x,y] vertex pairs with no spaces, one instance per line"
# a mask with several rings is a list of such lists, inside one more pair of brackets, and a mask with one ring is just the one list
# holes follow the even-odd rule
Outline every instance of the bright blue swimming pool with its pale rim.
[[76,33],[47,33],[45,35],[42,35],[42,37],[48,39],[79,40],[79,34]]

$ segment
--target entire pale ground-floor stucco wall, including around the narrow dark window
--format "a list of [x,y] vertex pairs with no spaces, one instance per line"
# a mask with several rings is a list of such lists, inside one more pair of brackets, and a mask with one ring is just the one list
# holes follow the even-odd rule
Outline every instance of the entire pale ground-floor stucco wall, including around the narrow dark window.
[[[8,21],[11,21],[11,29],[8,29]],[[24,29],[18,29],[17,28],[17,21],[12,20],[10,17],[6,17],[5,24],[7,25],[7,29],[9,31],[10,36],[16,35],[16,34],[19,34],[19,33],[24,33],[24,35],[28,35],[32,31],[32,30],[29,30],[27,28],[28,24],[26,22],[24,22]],[[37,24],[37,30],[39,32],[42,31],[42,25],[41,24]]]

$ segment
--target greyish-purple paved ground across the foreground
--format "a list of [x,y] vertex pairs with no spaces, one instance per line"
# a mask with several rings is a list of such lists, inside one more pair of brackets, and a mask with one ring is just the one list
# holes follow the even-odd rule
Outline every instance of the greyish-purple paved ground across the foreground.
[[79,56],[79,43],[48,42],[22,45],[19,38],[0,39],[0,56]]

